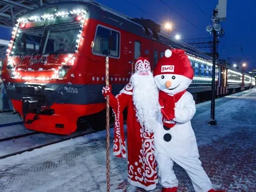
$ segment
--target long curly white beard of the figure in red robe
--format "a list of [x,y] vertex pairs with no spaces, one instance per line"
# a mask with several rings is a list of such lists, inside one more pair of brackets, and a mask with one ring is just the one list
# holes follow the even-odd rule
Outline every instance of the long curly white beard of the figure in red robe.
[[132,75],[132,100],[141,127],[144,127],[146,132],[155,132],[160,111],[159,92],[152,72],[148,73],[148,76],[140,76],[138,73]]

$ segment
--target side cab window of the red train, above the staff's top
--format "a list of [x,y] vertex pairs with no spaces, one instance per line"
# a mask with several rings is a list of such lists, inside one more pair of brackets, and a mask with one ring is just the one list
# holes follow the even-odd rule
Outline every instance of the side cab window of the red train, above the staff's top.
[[120,33],[110,28],[97,26],[93,42],[93,54],[99,56],[119,58],[120,56]]

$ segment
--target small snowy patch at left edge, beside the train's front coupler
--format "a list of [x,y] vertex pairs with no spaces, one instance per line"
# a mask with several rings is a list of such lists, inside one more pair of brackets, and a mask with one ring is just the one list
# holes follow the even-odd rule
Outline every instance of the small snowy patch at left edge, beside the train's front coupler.
[[0,127],[22,124],[22,119],[17,114],[12,113],[0,113]]

